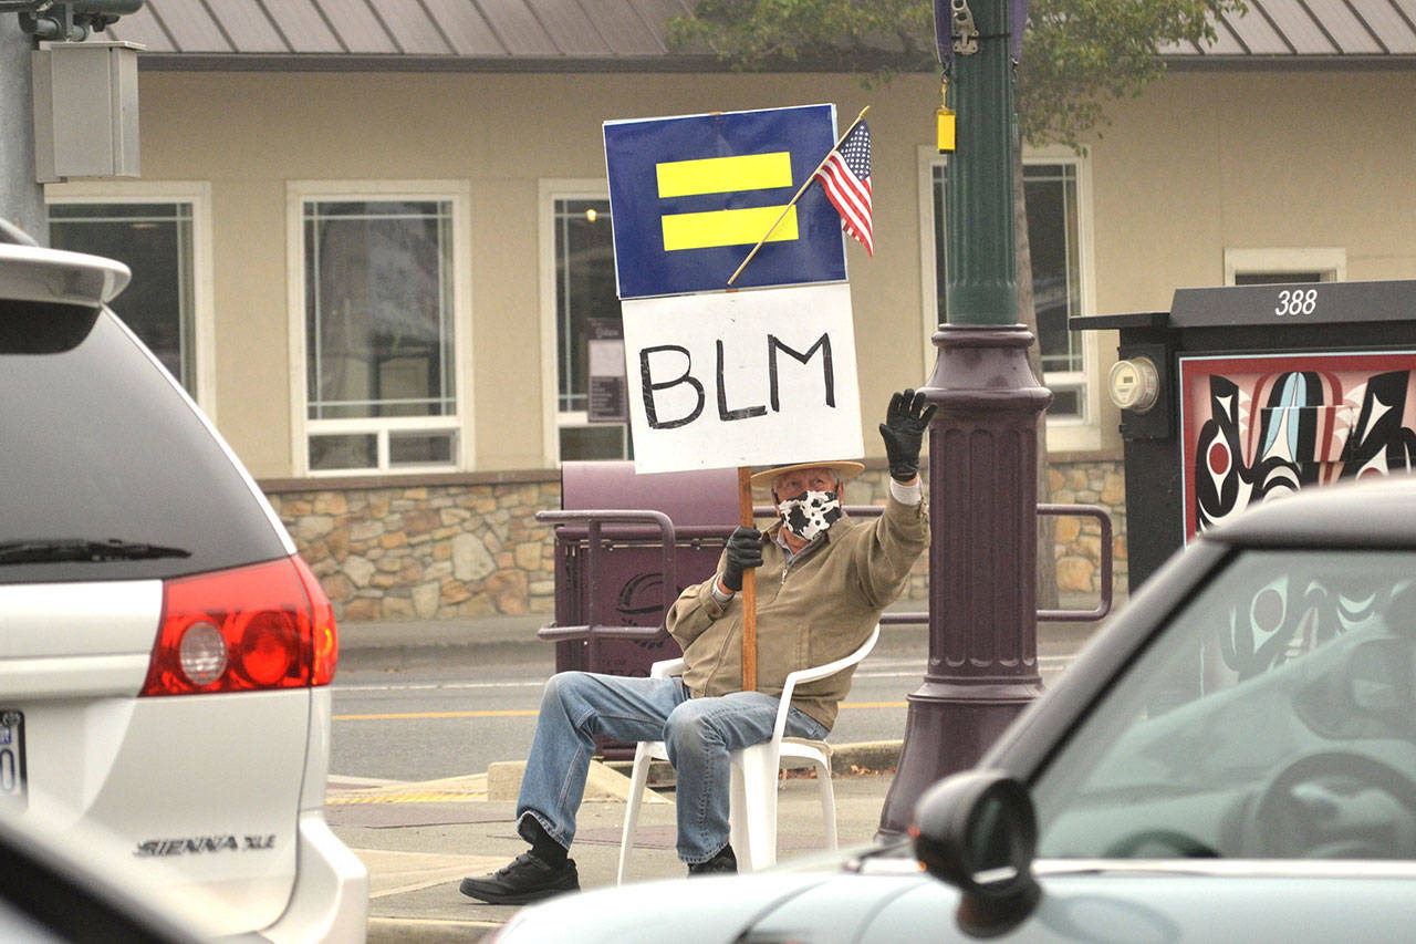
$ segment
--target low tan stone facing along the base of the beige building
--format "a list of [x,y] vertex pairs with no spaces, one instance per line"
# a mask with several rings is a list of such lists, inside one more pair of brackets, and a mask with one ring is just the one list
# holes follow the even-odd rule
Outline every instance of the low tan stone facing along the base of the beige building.
[[[1119,462],[1052,465],[1052,500],[1106,506],[1114,527],[1116,585],[1126,585],[1126,507]],[[270,503],[320,578],[338,619],[456,619],[555,607],[554,537],[535,513],[561,507],[555,471],[423,479],[263,482]],[[879,505],[885,469],[848,486],[848,505]],[[766,503],[759,495],[758,502]],[[1056,520],[1058,584],[1095,594],[1100,527]],[[920,558],[906,600],[929,595]]]

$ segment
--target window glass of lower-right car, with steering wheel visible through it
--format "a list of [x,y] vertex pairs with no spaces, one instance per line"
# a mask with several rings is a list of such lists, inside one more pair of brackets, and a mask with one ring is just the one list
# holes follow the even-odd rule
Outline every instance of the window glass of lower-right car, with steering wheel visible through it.
[[1039,856],[1416,859],[1413,575],[1238,556],[1034,784]]

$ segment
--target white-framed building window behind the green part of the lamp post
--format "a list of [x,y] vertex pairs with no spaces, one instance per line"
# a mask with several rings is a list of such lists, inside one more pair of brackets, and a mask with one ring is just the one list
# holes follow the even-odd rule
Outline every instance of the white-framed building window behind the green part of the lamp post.
[[[1082,220],[1078,162],[1027,162],[1022,186],[1028,203],[1032,254],[1032,310],[1042,353],[1042,383],[1052,390],[1051,420],[1087,420],[1086,346],[1068,318],[1082,313]],[[933,162],[935,289],[937,320],[944,305],[944,164]]]

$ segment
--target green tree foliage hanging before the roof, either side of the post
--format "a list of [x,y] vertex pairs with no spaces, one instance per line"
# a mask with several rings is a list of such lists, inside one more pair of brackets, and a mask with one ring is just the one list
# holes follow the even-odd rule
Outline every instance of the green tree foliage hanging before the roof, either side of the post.
[[[1107,101],[1138,95],[1161,50],[1215,38],[1214,17],[1242,0],[1031,0],[1015,86],[1031,145],[1065,143],[1106,123]],[[739,69],[845,69],[864,79],[937,68],[929,0],[698,0],[670,23],[677,50]]]

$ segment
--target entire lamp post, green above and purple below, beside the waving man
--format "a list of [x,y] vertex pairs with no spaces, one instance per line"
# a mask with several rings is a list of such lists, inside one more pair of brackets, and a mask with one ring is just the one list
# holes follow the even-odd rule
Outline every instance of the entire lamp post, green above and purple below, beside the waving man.
[[956,40],[947,67],[956,150],[944,189],[949,323],[935,332],[937,360],[923,387],[939,405],[929,435],[929,663],[908,696],[882,836],[905,832],[919,795],[977,763],[1042,687],[1037,424],[1052,394],[1032,376],[1034,337],[1017,323],[1008,35],[1022,23],[1010,23],[1010,6],[936,1],[936,17],[953,18],[952,30],[939,27]]

